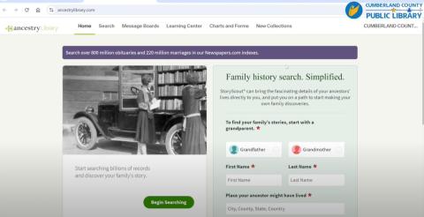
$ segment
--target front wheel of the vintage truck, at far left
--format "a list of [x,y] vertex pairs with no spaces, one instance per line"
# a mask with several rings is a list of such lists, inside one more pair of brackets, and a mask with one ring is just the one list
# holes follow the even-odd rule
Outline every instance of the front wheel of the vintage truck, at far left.
[[97,143],[97,130],[87,117],[79,117],[75,125],[75,138],[80,149],[93,149]]

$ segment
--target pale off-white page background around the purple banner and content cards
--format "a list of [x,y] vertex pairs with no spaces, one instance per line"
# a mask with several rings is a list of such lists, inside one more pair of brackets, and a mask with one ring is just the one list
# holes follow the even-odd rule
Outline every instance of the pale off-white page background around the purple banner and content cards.
[[[420,35],[2,35],[1,216],[62,213],[62,66],[144,64],[64,61],[63,45],[357,45],[358,205],[361,217],[424,215]],[[172,39],[172,40],[170,40]],[[66,41],[66,42],[64,42]],[[414,49],[415,48],[415,49]],[[6,50],[6,51],[4,51]],[[300,61],[216,61],[299,64]],[[199,64],[148,61],[148,64]],[[201,61],[210,67],[212,62]],[[301,62],[302,64],[304,62]],[[346,64],[345,61],[309,61]],[[213,71],[208,71],[208,76]],[[39,80],[43,81],[40,82]],[[208,78],[208,81],[212,79]],[[19,81],[19,82],[18,82]],[[208,84],[212,86],[212,84]],[[384,92],[382,91],[384,90]],[[17,100],[17,98],[19,100]],[[13,101],[13,104],[11,103]],[[208,101],[209,104],[212,101]],[[209,113],[211,114],[211,113]],[[212,119],[210,119],[212,120]],[[208,135],[212,121],[208,122]],[[210,138],[210,137],[209,137]],[[211,141],[212,143],[213,141]],[[212,146],[208,146],[209,149]],[[213,153],[208,150],[208,153]],[[208,161],[212,156],[208,155]],[[210,163],[208,167],[210,167]],[[212,171],[208,168],[208,171]],[[208,180],[212,174],[208,173]],[[208,183],[208,199],[212,199]],[[141,205],[140,205],[141,206]],[[210,213],[212,206],[208,206]]]

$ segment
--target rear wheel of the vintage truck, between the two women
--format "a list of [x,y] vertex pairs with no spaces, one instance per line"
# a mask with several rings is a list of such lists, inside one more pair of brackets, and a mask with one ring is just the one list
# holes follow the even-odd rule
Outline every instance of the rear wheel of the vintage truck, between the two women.
[[183,148],[183,123],[174,124],[166,132],[166,152],[168,154],[180,154]]

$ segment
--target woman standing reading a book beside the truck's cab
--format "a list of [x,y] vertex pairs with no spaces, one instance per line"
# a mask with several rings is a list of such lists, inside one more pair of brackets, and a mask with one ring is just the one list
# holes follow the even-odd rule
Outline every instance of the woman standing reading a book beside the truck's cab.
[[153,94],[148,90],[148,84],[151,82],[150,76],[141,77],[141,89],[137,97],[139,104],[139,116],[137,118],[137,128],[135,139],[138,142],[137,153],[148,154],[148,144],[155,144],[155,119],[150,109],[153,100]]

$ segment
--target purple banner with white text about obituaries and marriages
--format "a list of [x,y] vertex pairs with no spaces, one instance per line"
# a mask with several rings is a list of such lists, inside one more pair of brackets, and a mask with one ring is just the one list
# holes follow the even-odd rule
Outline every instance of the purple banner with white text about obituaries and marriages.
[[64,59],[357,59],[356,46],[64,46]]

